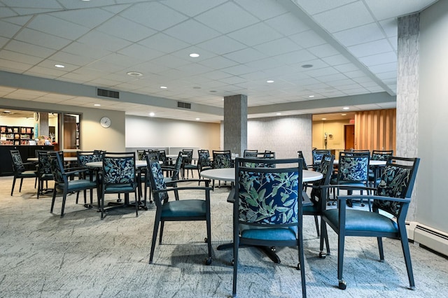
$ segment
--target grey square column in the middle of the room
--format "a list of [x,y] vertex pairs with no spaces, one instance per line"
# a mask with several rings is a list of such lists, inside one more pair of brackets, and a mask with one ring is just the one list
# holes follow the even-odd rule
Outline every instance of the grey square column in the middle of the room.
[[224,148],[243,155],[247,149],[247,96],[224,97]]

